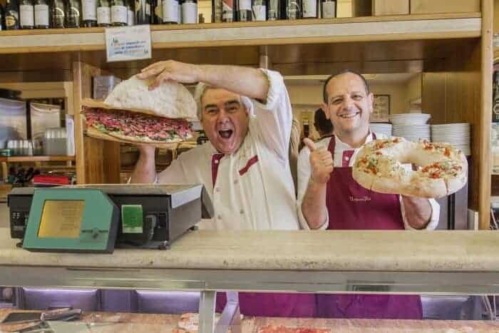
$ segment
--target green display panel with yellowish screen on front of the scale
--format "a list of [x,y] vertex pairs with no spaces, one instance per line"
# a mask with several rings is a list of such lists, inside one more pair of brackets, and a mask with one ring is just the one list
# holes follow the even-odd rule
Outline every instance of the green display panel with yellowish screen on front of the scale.
[[97,189],[37,188],[23,248],[45,252],[112,253],[120,213]]

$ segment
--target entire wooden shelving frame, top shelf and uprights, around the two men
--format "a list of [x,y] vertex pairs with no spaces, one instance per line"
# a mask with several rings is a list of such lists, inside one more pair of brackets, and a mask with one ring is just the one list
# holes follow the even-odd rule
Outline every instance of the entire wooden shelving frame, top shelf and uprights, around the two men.
[[[472,125],[469,208],[490,223],[493,0],[482,11],[232,24],[152,26],[153,58],[106,63],[104,31],[0,32],[0,83],[72,81],[78,183],[119,183],[119,144],[83,135],[81,100],[91,77],[127,78],[154,61],[264,66],[285,76],[423,73],[421,106],[433,123]],[[319,101],[318,101],[319,102]]]

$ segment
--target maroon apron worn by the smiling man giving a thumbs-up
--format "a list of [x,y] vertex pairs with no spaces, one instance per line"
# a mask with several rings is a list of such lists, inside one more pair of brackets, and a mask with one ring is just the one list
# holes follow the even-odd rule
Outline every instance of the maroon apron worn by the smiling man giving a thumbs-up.
[[[373,138],[376,136],[373,134]],[[329,151],[334,156],[335,137]],[[351,176],[349,160],[354,150],[346,150],[342,167],[334,168],[327,183],[328,230],[403,230],[398,195],[375,193],[362,188]],[[396,251],[396,249],[393,249]],[[318,294],[319,317],[422,319],[421,297],[386,294]]]

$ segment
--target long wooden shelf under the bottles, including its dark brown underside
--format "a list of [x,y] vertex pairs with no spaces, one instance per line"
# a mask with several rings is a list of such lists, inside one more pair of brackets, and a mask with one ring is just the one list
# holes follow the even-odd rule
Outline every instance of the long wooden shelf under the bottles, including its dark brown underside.
[[364,73],[438,71],[436,63],[452,63],[447,59],[478,43],[481,24],[479,13],[467,13],[158,25],[151,27],[153,58],[116,63],[106,61],[103,28],[0,31],[0,81],[16,81],[15,71],[24,72],[24,81],[71,81],[74,61],[122,78],[164,59],[259,66],[262,52],[284,75],[345,66]]

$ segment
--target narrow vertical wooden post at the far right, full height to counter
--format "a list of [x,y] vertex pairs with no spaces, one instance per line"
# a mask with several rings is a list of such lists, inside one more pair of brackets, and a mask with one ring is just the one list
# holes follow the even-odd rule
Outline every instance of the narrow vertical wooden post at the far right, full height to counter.
[[481,37],[481,115],[478,128],[480,140],[480,165],[478,166],[480,205],[479,227],[490,228],[490,122],[492,121],[492,68],[493,68],[493,0],[482,0]]

